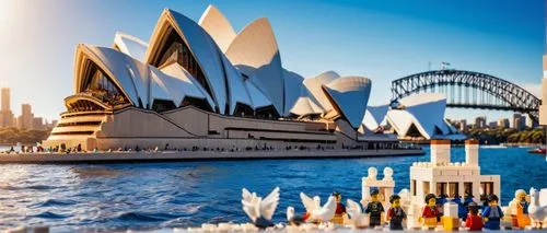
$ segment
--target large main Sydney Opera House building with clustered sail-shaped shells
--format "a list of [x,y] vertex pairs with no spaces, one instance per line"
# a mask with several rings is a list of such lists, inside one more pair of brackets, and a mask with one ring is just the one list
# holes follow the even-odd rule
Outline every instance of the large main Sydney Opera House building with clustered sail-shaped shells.
[[366,144],[371,81],[284,69],[265,18],[236,33],[212,5],[198,23],[165,9],[148,43],[117,33],[112,47],[75,50],[74,94],[45,145]]

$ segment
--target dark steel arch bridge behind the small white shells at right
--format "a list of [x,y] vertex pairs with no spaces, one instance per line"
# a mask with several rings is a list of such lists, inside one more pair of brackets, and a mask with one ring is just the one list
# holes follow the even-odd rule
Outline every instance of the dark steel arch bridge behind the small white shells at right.
[[465,70],[432,70],[392,82],[392,103],[417,93],[446,96],[446,107],[512,110],[538,119],[542,101],[523,88],[500,78]]

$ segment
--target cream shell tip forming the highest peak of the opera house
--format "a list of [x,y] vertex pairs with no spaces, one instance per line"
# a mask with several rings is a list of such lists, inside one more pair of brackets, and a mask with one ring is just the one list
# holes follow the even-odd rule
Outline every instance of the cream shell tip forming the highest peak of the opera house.
[[230,21],[214,5],[210,4],[199,19],[199,25],[211,35],[222,51],[226,51],[236,34]]

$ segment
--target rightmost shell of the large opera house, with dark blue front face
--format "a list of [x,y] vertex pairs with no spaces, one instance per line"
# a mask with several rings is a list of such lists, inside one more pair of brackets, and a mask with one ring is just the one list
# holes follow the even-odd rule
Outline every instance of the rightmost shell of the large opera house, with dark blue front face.
[[362,77],[345,77],[323,85],[323,90],[337,112],[358,129],[369,103],[371,81]]

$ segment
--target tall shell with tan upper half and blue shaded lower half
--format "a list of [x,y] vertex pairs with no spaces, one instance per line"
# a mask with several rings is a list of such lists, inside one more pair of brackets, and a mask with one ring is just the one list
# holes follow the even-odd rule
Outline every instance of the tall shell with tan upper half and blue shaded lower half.
[[234,38],[226,56],[240,71],[249,77],[271,101],[276,110],[284,113],[284,82],[281,57],[271,25],[266,18],[248,24]]

